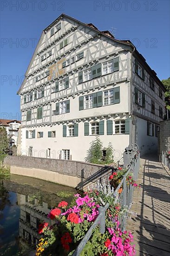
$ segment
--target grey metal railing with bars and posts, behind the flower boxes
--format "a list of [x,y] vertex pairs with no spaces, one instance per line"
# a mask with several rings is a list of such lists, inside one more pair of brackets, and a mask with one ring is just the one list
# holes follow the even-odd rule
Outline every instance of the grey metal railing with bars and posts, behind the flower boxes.
[[[127,156],[127,155],[126,155]],[[127,159],[126,159],[127,160]],[[116,197],[118,194],[118,190],[122,187],[122,193],[119,194],[118,201],[120,202],[121,205],[123,206],[130,206],[132,202],[132,196],[133,196],[133,189],[134,187],[131,186],[131,184],[127,185],[126,183],[126,176],[128,173],[133,173],[133,178],[134,180],[137,180],[138,176],[138,170],[140,167],[140,154],[136,152],[136,155],[134,155],[133,159],[130,159],[129,165],[128,165],[128,170],[126,174],[124,175],[122,181],[119,183],[117,189],[114,191],[113,196]],[[82,250],[85,247],[85,244],[88,242],[90,237],[92,236],[92,230],[95,229],[99,225],[99,230],[100,233],[104,234],[105,233],[105,212],[109,207],[109,203],[106,203],[104,207],[99,207],[98,208],[98,217],[96,220],[93,222],[92,226],[90,229],[88,229],[87,233],[85,234],[84,238],[81,240],[79,243],[78,247],[74,251],[72,256],[79,256]],[[119,227],[120,229],[124,230],[126,226],[126,214],[124,216],[121,216],[119,218]]]

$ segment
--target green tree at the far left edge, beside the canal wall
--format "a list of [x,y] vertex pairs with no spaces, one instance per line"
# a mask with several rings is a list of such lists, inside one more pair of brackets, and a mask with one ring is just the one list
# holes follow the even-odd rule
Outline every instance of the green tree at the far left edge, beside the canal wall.
[[0,160],[3,160],[5,154],[7,154],[9,148],[9,141],[7,137],[7,131],[4,127],[0,128]]

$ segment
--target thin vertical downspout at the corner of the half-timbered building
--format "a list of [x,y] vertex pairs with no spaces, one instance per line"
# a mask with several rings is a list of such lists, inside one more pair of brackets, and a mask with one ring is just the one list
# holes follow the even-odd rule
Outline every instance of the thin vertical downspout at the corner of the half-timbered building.
[[129,139],[129,144],[131,145],[133,142],[134,138],[134,131],[133,131],[133,125],[132,125],[132,115],[133,115],[133,101],[132,101],[132,96],[133,96],[133,91],[132,91],[132,85],[133,85],[133,52],[135,51],[135,47],[133,48],[133,51],[131,52],[131,129],[130,129],[130,139]]

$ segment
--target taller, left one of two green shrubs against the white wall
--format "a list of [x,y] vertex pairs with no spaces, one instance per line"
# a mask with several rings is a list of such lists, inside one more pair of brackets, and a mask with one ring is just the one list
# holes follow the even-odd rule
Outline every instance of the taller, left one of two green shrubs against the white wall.
[[97,136],[94,141],[90,143],[90,148],[87,150],[87,156],[85,162],[98,163],[100,164],[103,157],[103,143]]

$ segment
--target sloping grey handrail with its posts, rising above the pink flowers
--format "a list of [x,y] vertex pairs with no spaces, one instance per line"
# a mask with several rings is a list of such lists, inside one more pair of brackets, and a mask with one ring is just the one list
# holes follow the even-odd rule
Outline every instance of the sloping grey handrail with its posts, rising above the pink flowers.
[[[124,205],[126,203],[126,176],[131,171],[131,169],[133,167],[135,168],[135,165],[134,165],[135,163],[136,163],[137,171],[138,171],[139,163],[137,161],[139,161],[139,159],[140,159],[140,155],[138,155],[137,159],[133,159],[131,161],[131,163],[130,163],[130,165],[128,167],[127,172],[124,174],[123,179],[118,184],[118,187],[116,188],[116,190],[113,193],[113,196],[116,197],[117,194],[118,194],[118,189],[120,189],[121,186],[123,185],[123,199],[124,199],[123,201],[124,201]],[[110,204],[106,203],[104,207],[99,207],[98,208],[99,214],[98,214],[96,220],[93,222],[92,226],[88,229],[87,233],[85,234],[84,238],[79,243],[78,247],[76,248],[76,250],[74,251],[72,256],[79,256],[80,255],[80,253],[82,252],[82,250],[85,247],[85,244],[88,242],[88,240],[92,236],[92,230],[95,229],[98,224],[99,224],[100,233],[102,233],[102,234],[105,233],[105,212],[109,208],[109,206],[110,206]]]

